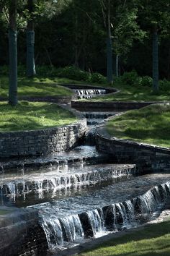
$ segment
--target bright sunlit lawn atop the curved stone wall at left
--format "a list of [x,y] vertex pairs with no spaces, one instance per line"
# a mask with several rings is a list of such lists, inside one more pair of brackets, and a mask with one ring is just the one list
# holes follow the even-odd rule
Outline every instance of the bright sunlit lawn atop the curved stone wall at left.
[[0,102],[0,113],[0,132],[45,129],[76,121],[76,116],[55,103],[20,101],[9,106]]

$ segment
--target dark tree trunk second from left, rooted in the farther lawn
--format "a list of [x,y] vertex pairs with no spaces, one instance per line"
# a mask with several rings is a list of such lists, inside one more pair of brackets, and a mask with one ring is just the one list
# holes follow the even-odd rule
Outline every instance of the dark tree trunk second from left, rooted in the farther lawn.
[[34,10],[34,0],[27,0],[27,7],[30,13],[30,20],[27,22],[27,77],[33,77],[35,71],[35,32],[32,12]]

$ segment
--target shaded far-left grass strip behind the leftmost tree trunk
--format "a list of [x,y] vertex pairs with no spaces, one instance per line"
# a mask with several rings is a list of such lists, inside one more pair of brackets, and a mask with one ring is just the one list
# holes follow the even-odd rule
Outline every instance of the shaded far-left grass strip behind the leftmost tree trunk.
[[[60,85],[53,85],[55,82],[66,82],[64,79],[48,79],[48,78],[18,78],[18,95],[19,97],[45,97],[45,96],[62,96],[72,95],[68,88]],[[67,81],[68,82],[68,81]],[[0,97],[7,97],[9,90],[9,80],[7,77],[0,78]]]

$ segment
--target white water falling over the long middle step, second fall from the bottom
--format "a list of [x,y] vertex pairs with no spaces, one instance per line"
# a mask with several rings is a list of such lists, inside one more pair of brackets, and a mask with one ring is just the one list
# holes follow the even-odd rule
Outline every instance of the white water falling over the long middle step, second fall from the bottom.
[[74,173],[68,173],[68,170],[65,174],[58,174],[55,171],[49,171],[42,176],[32,175],[23,175],[22,179],[14,179],[9,182],[3,181],[0,184],[0,191],[2,195],[8,195],[13,202],[15,202],[16,197],[20,197],[21,195],[27,195],[30,192],[35,192],[39,199],[43,198],[44,192],[52,192],[53,194],[56,191],[61,191],[63,189],[68,189],[70,187],[78,187],[89,185],[89,184],[97,184],[102,181],[117,179],[122,176],[129,176],[133,174],[135,171],[135,166],[121,165],[121,166],[106,166],[97,168],[82,168],[81,171]]

